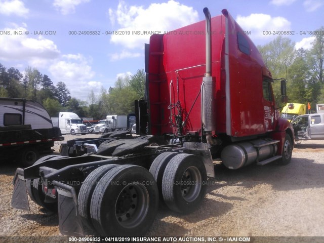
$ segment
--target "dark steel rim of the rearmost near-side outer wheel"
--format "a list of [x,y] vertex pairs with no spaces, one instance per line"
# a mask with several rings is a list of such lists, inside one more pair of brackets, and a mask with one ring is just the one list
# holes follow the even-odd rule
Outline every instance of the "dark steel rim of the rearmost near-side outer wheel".
[[140,183],[128,184],[120,191],[115,205],[117,222],[125,228],[138,226],[146,217],[149,194]]

